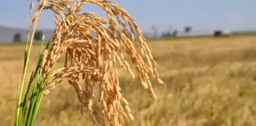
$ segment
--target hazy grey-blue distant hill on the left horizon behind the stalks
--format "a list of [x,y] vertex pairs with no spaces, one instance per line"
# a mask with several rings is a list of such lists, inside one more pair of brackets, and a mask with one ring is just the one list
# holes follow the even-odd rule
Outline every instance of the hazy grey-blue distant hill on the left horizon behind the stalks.
[[[41,30],[41,29],[37,29]],[[41,30],[45,34],[46,39],[49,39],[53,30]],[[0,26],[0,43],[12,43],[15,33],[21,33],[22,41],[27,39],[27,29],[26,28],[14,28]]]

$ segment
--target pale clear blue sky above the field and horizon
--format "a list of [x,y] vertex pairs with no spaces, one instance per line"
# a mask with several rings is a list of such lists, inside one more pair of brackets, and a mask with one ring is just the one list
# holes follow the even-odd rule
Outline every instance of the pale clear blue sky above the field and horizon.
[[[27,27],[29,5],[32,0],[7,0],[0,4],[0,25]],[[36,0],[34,0],[36,2]],[[142,30],[159,31],[172,25],[183,30],[256,30],[255,0],[113,0],[136,20]],[[95,5],[86,5],[83,11],[104,14]],[[38,28],[53,28],[53,15],[43,12]]]

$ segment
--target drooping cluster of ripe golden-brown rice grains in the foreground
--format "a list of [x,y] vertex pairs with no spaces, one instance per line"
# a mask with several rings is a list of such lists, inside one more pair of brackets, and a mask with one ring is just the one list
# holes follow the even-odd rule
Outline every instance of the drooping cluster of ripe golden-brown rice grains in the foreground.
[[[117,71],[117,66],[120,65],[135,78],[125,59],[126,53],[135,65],[142,87],[156,98],[149,74],[163,84],[158,75],[157,64],[139,26],[120,5],[105,0],[37,2],[37,10],[43,8],[53,12],[56,24],[40,65],[42,76],[50,78],[46,83],[45,94],[50,93],[50,90],[66,78],[82,103],[82,114],[88,109],[94,124],[105,125],[105,117],[111,125],[121,125],[125,120],[133,120],[128,102],[120,93]],[[91,12],[81,13],[83,5],[87,3],[103,8],[107,17]],[[33,6],[31,4],[30,8]],[[31,21],[34,22],[33,19]],[[53,70],[62,53],[66,53],[65,65]],[[144,58],[146,61],[143,61]],[[80,81],[83,84],[79,84]],[[95,86],[99,87],[98,98],[94,96]],[[93,104],[97,99],[101,103],[100,111]]]

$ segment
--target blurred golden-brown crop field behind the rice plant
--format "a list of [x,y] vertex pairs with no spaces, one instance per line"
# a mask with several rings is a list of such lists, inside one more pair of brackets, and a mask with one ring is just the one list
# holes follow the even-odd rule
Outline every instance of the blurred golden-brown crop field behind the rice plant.
[[[256,124],[256,37],[149,41],[165,85],[153,83],[158,99],[149,98],[138,80],[120,73],[123,96],[135,121],[126,125],[216,126]],[[34,46],[29,72],[39,46]],[[24,45],[0,46],[0,125],[14,124]],[[62,60],[58,63],[62,65]],[[91,125],[80,115],[72,87],[63,82],[43,98],[36,125]]]

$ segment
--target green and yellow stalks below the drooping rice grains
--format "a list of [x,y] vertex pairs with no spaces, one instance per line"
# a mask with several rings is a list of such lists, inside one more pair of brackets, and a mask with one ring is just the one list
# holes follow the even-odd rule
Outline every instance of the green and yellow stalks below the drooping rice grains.
[[[34,3],[32,2],[30,5],[33,6]],[[28,62],[30,59],[30,52],[32,49],[32,45],[34,42],[34,33],[37,27],[37,20],[40,16],[43,7],[46,5],[46,1],[43,3],[43,5],[40,7],[37,14],[35,14],[35,17],[31,17],[30,20],[30,26],[29,30],[27,32],[27,43],[26,43],[26,49],[24,54],[24,68],[23,68],[23,75],[21,79],[21,83],[19,83],[18,88],[18,99],[17,99],[17,107],[16,107],[16,117],[15,117],[15,126],[21,126],[21,125],[31,125],[33,120],[30,119],[30,117],[35,117],[37,115],[38,110],[38,103],[40,103],[40,100],[42,99],[42,96],[40,93],[42,93],[42,89],[40,89],[38,86],[40,86],[43,83],[38,83],[37,79],[40,77],[40,74],[38,72],[39,66],[40,66],[40,60],[41,60],[41,52],[43,50],[43,43],[44,43],[44,36],[42,38],[42,48],[40,49],[39,58],[37,60],[37,68],[34,73],[31,74],[29,83],[27,85],[27,91],[24,93],[24,87],[27,77],[27,68],[28,68]],[[34,28],[32,30],[31,38],[29,36],[30,34],[30,28],[33,26]],[[30,39],[30,40],[29,40]],[[29,47],[27,48],[27,46]],[[36,108],[34,108],[36,107]],[[29,112],[29,113],[28,113]],[[33,124],[32,124],[33,125]]]

